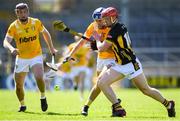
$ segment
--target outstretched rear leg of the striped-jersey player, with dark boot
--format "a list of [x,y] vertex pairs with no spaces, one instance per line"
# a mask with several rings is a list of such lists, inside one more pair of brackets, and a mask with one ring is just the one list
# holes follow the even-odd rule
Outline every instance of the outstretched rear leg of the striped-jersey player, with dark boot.
[[143,94],[149,97],[152,97],[153,99],[162,103],[167,108],[169,117],[175,117],[175,108],[174,108],[175,102],[168,101],[162,96],[159,90],[155,88],[151,88],[148,85],[146,77],[144,76],[143,73],[133,78],[132,81],[134,82],[136,87],[139,88],[143,92]]

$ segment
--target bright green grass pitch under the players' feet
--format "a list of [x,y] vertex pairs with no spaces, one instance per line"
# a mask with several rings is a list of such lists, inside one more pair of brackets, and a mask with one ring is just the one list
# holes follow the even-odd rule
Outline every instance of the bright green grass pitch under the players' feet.
[[[91,105],[89,115],[80,115],[84,101],[80,101],[78,91],[47,92],[49,108],[47,112],[40,109],[38,92],[26,91],[25,101],[27,111],[17,112],[19,103],[15,91],[0,90],[0,120],[7,121],[180,121],[180,89],[161,89],[168,99],[176,101],[176,117],[168,118],[166,109],[157,101],[144,96],[137,89],[118,89],[116,94],[122,100],[122,106],[127,111],[124,118],[110,117],[111,104],[103,94],[100,94]],[[87,99],[89,92],[85,92]]]

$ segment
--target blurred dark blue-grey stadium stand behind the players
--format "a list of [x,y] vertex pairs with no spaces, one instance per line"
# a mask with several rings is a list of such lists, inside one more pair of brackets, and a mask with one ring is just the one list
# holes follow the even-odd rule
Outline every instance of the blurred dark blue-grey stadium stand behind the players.
[[[51,33],[55,47],[61,52],[73,42],[73,36],[57,32],[52,21],[61,19],[70,28],[84,32],[98,7],[113,6],[120,21],[126,24],[130,38],[151,86],[180,87],[180,1],[179,0],[1,0],[0,4],[0,88],[13,89],[14,57],[3,48],[8,26],[16,19],[17,3],[29,5],[30,16],[39,18]],[[42,40],[44,54],[49,56]],[[50,61],[50,59],[48,60]],[[35,89],[31,74],[25,87]],[[129,80],[119,84],[133,87]]]

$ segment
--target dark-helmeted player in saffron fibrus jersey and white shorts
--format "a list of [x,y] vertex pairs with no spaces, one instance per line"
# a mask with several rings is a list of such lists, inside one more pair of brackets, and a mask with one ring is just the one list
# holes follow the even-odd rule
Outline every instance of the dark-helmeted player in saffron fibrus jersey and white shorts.
[[[41,21],[37,18],[29,17],[29,7],[26,3],[19,3],[15,7],[17,19],[10,24],[4,39],[4,47],[16,56],[14,80],[16,83],[16,95],[20,102],[19,112],[26,110],[24,100],[25,76],[31,69],[41,93],[41,109],[48,108],[45,96],[45,82],[43,80],[44,67],[42,49],[39,34],[42,33],[51,54],[57,50],[54,48],[51,36]],[[11,42],[15,41],[16,47]]]

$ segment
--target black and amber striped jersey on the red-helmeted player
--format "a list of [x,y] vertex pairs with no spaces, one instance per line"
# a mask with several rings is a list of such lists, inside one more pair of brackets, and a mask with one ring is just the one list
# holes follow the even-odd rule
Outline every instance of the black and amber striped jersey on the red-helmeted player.
[[135,62],[136,56],[132,50],[131,40],[124,24],[116,23],[108,33],[106,41],[112,43],[112,48],[118,64]]

